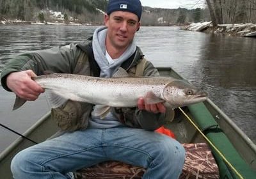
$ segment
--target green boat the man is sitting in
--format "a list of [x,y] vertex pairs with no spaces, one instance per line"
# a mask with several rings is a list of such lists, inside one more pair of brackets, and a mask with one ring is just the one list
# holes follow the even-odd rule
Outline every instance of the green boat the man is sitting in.
[[[184,79],[172,68],[157,69],[162,76]],[[210,99],[175,109],[175,119],[164,127],[172,130],[180,143],[207,143],[218,165],[219,178],[256,177],[256,145]],[[58,130],[49,112],[23,136],[40,143]],[[1,153],[1,178],[12,178],[10,162],[13,156],[33,144],[28,139],[19,137]]]

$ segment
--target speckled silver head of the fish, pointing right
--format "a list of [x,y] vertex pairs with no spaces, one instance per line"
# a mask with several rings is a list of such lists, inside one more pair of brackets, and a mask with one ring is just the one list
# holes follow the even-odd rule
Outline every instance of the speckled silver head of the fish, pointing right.
[[173,108],[195,104],[207,99],[207,93],[182,80],[168,83],[163,90],[163,98]]

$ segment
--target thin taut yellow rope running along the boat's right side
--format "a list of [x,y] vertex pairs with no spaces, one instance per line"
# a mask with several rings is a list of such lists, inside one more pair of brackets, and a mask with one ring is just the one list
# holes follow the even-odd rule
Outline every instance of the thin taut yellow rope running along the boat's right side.
[[226,157],[220,152],[220,150],[218,150],[218,148],[216,148],[216,146],[205,136],[205,134],[200,130],[200,128],[198,128],[196,126],[196,124],[193,122],[193,120],[191,120],[191,118],[189,118],[188,114],[186,114],[180,107],[179,107],[180,111],[184,114],[184,116],[186,116],[186,118],[188,118],[188,120],[192,123],[192,125],[196,128],[196,130],[198,130],[198,132],[200,132],[200,134],[205,138],[205,140],[212,146],[212,148],[214,148],[214,150],[216,150],[216,152],[221,156],[221,158],[228,164],[228,166],[234,171],[234,173],[236,173],[237,176],[239,176],[239,178],[244,179],[243,176],[236,170],[236,168],[234,166],[232,166],[232,164],[230,164],[230,162],[228,162],[228,160],[226,159]]

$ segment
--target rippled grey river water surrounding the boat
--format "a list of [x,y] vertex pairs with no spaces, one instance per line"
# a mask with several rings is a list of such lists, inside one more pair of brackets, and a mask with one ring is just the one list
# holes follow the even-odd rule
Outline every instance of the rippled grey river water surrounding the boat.
[[[0,72],[17,54],[80,42],[95,26],[0,26]],[[256,143],[256,38],[183,31],[179,27],[141,27],[137,44],[155,66],[172,66],[209,93]],[[44,95],[12,111],[13,93],[0,86],[0,122],[25,132],[49,111]],[[0,127],[0,152],[18,136]]]

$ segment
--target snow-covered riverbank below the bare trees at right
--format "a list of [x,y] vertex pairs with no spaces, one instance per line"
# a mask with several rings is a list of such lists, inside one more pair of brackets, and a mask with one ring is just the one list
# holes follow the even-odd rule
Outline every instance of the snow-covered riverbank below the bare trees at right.
[[192,23],[182,29],[189,31],[200,31],[214,34],[224,34],[228,36],[248,36],[256,38],[256,24],[218,24],[216,27],[212,26],[212,22],[198,22]]

